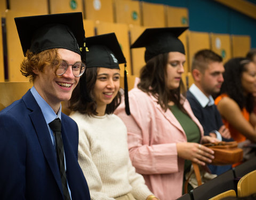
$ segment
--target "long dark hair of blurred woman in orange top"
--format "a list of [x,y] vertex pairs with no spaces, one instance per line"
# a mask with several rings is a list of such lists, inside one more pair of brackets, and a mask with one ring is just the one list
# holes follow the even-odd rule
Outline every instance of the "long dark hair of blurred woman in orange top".
[[241,110],[245,107],[249,113],[252,113],[253,96],[250,93],[244,95],[241,83],[242,73],[247,70],[246,66],[249,62],[251,61],[241,57],[230,59],[225,63],[224,82],[222,83],[220,94],[226,93],[236,101]]

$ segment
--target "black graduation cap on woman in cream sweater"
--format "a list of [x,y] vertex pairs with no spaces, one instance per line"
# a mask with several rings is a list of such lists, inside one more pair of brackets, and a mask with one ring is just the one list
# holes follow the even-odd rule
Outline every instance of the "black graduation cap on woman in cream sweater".
[[119,69],[119,64],[126,63],[124,54],[115,33],[86,38],[86,67],[105,67]]

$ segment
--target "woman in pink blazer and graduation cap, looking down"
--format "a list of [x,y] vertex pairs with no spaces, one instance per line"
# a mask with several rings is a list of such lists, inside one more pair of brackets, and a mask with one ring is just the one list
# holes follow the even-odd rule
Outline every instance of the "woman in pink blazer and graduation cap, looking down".
[[[124,102],[115,114],[127,126],[133,166],[162,200],[182,195],[183,173],[191,161],[211,163],[213,151],[201,146],[214,141],[203,136],[203,128],[185,97],[180,94],[186,61],[178,36],[187,28],[146,29],[131,46],[146,46],[146,66],[140,82],[129,92],[131,115]],[[185,162],[186,160],[186,162]]]

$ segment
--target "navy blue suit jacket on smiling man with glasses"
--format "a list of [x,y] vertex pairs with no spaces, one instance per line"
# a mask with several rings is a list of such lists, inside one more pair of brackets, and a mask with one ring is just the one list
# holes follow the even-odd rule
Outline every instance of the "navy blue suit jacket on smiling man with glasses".
[[[77,124],[61,114],[61,130],[71,197],[90,199],[77,162]],[[55,149],[30,90],[0,112],[0,158],[0,199],[63,199]]]

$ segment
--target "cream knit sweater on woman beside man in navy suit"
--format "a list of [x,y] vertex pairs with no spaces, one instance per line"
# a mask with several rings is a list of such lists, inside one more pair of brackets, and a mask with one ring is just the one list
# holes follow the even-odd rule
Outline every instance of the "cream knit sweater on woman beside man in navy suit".
[[145,200],[152,194],[131,164],[126,126],[119,117],[89,117],[77,111],[70,117],[78,125],[78,162],[92,200],[113,200],[127,193]]

